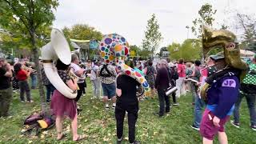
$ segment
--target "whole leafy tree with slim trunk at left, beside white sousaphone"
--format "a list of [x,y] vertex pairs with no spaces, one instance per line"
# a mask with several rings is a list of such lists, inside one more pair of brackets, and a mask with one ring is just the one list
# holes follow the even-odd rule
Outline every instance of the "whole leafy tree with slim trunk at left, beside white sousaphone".
[[[42,111],[46,112],[46,98],[42,85],[42,75],[38,61],[38,45],[44,37],[46,27],[52,25],[53,10],[57,8],[57,0],[2,0],[0,2],[0,25],[8,31],[18,30],[30,42],[35,68],[38,71],[39,94]],[[16,29],[14,29],[16,28]]]

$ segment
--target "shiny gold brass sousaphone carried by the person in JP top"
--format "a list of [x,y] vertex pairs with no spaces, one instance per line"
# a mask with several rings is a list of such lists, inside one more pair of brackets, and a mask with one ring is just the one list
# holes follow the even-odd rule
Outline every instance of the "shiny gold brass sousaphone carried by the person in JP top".
[[[236,36],[228,30],[212,30],[207,26],[202,26],[202,50],[206,54],[211,49],[222,47],[226,62],[226,68],[233,67],[241,70],[240,82],[245,77],[248,70],[246,62],[240,58],[240,49],[236,42]],[[206,92],[210,88],[210,84],[205,83],[200,90],[200,95],[206,100]]]

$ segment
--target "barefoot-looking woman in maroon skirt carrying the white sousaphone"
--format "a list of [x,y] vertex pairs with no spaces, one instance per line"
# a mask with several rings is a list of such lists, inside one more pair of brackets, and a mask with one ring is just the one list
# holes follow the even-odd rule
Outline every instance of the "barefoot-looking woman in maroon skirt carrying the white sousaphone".
[[[71,90],[77,90],[78,84],[76,79],[71,79],[67,74],[69,65],[65,65],[60,60],[57,61],[56,68],[58,75],[62,78],[62,81],[69,86]],[[64,115],[67,115],[71,120],[71,128],[73,133],[73,141],[80,141],[85,138],[84,135],[78,135],[78,111],[77,102],[74,99],[66,98],[58,90],[54,90],[54,95],[51,98],[50,109],[56,115],[56,129],[57,129],[57,140],[62,140],[65,134],[62,133],[62,124]]]

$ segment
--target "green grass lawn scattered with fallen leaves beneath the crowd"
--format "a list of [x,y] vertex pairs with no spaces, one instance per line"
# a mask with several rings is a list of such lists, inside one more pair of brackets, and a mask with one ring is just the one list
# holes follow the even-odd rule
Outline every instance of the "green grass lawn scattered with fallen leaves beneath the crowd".
[[[86,97],[79,102],[82,114],[78,116],[78,132],[86,134],[86,139],[81,143],[115,143],[116,128],[113,110],[104,110],[103,104],[92,97],[92,86],[87,82]],[[32,90],[34,103],[22,103],[19,95],[14,94],[10,108],[9,118],[0,118],[0,143],[57,143],[56,130],[51,129],[43,132],[38,137],[22,136],[24,129],[22,122],[34,111],[40,110],[38,90]],[[164,118],[154,115],[158,111],[158,99],[150,99],[140,102],[140,113],[136,127],[136,138],[142,143],[201,143],[202,138],[198,131],[192,130],[190,124],[193,121],[193,106],[191,106],[190,94],[178,99],[179,106],[173,106],[170,114]],[[226,126],[229,143],[256,143],[256,132],[250,129],[249,113],[245,99],[241,107],[241,128],[237,129],[230,125]],[[125,120],[125,140],[128,142],[128,126]],[[66,119],[64,131],[67,137],[61,143],[73,143],[70,131],[70,120]],[[214,141],[218,143],[218,141]]]

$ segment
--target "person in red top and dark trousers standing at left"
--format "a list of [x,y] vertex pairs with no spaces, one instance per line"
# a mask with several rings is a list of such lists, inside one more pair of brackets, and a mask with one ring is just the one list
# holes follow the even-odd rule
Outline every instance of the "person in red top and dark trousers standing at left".
[[27,79],[30,77],[31,70],[23,70],[22,64],[17,63],[14,65],[14,72],[16,74],[16,78],[18,80],[18,86],[20,90],[20,98],[22,102],[25,102],[24,93],[26,92],[26,102],[31,103],[31,94],[30,94],[30,86],[27,82]]

